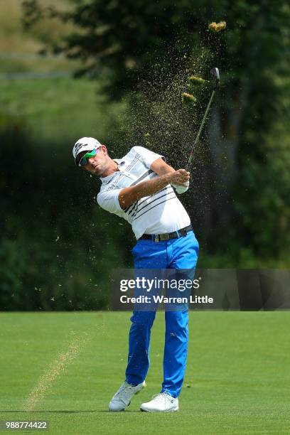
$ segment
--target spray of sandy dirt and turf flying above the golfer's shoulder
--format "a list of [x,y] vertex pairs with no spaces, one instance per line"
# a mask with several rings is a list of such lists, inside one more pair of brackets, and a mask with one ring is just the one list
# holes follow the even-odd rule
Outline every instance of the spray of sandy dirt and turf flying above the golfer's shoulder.
[[[205,28],[209,26],[205,23]],[[218,48],[220,31],[225,28],[220,23],[216,26],[220,29],[218,32],[214,30],[216,27],[209,29],[208,35],[205,34],[206,37],[200,38],[191,48],[185,38],[184,55],[176,58],[174,63],[178,68],[163,73],[156,61],[156,65],[151,65],[154,73],[137,82],[120,116],[117,138],[111,138],[112,142],[123,144],[124,153],[129,147],[139,144],[166,156],[169,162],[173,162],[173,167],[185,166],[193,146],[193,130],[198,132],[200,114],[203,117],[205,110],[204,97],[210,97],[213,91],[213,80],[204,80],[208,78],[204,75],[210,65],[215,65],[217,58],[208,38],[210,41],[214,39],[215,48]],[[171,48],[168,48],[167,55],[171,56]],[[195,148],[195,156],[199,156],[202,165],[208,159],[207,151],[199,146]],[[202,182],[203,178],[196,177],[195,187]]]

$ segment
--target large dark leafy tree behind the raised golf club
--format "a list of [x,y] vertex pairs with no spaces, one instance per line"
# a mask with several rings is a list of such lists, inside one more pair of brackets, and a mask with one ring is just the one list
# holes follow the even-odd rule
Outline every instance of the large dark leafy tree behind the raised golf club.
[[[241,247],[260,257],[271,255],[273,247],[275,254],[287,249],[289,149],[273,139],[274,131],[286,136],[281,127],[289,97],[285,1],[84,0],[67,12],[43,9],[36,0],[23,5],[26,26],[44,16],[73,23],[76,30],[50,48],[80,58],[78,75],[101,73],[111,99],[131,92],[131,107],[143,113],[139,122],[134,118],[131,137],[146,144],[147,134],[152,149],[171,144],[166,151],[174,164],[177,147],[184,162],[201,116],[200,110],[190,122],[188,114],[181,115],[177,100],[186,73],[205,75],[210,66],[220,67],[220,100],[196,153],[195,199],[188,198],[194,223],[208,249],[220,248],[216,237],[222,236],[222,249],[231,249],[237,262]],[[208,23],[221,19],[226,31],[210,33]],[[176,90],[174,98],[162,101],[168,90]],[[168,102],[173,104],[164,114]],[[176,114],[182,121],[170,129]],[[148,132],[149,124],[154,131]]]

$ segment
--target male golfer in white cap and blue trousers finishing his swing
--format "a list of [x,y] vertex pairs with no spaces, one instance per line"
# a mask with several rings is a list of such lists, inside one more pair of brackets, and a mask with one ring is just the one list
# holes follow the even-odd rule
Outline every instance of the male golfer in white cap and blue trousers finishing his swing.
[[[136,269],[195,269],[198,242],[178,194],[186,192],[190,173],[175,171],[163,156],[134,146],[122,159],[111,159],[97,139],[83,137],[73,147],[75,163],[102,181],[97,203],[127,220],[136,236],[132,250]],[[149,370],[151,326],[156,311],[134,311],[129,331],[125,381],[109,402],[109,411],[123,411],[145,386]],[[146,412],[178,411],[188,350],[188,308],[166,311],[161,392],[141,404]]]

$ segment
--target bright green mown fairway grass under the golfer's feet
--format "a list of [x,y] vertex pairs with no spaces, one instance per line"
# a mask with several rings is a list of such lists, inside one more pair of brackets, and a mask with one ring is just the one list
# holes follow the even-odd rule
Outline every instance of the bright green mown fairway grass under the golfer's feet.
[[[152,329],[147,387],[125,412],[107,412],[124,380],[129,317],[113,312],[0,313],[0,420],[48,420],[50,434],[290,432],[288,312],[191,312],[180,412],[170,414],[139,412],[141,402],[161,388],[161,312]],[[73,356],[67,358],[72,340]],[[59,367],[65,358],[59,375],[49,378],[49,367]],[[45,374],[50,382],[43,397],[33,411],[24,412]]]

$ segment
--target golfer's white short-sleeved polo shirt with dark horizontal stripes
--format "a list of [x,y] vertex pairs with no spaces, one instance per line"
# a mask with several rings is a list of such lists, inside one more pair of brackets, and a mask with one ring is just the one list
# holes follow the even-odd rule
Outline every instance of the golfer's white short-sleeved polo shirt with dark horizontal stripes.
[[137,200],[124,210],[120,207],[120,191],[155,178],[157,174],[151,171],[151,164],[159,158],[163,159],[163,156],[143,146],[134,146],[123,159],[114,159],[119,171],[100,178],[102,187],[97,195],[97,203],[109,213],[127,220],[136,239],[143,234],[164,234],[190,225],[188,213],[170,184],[154,195]]

